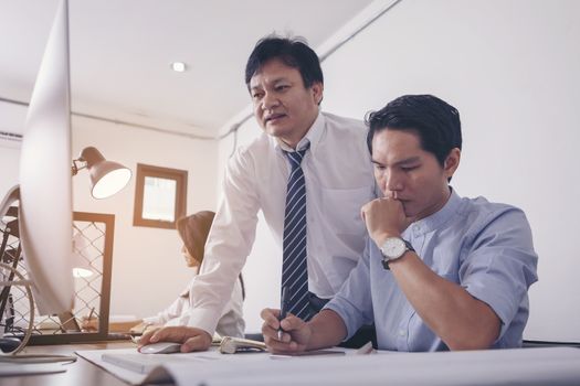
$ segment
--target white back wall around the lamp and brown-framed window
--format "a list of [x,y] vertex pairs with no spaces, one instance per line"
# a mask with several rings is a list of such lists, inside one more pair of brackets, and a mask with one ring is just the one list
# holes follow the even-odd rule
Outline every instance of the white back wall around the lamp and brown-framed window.
[[[0,104],[2,131],[22,132],[25,108]],[[24,114],[20,114],[23,110]],[[188,171],[188,213],[215,210],[218,143],[200,141],[73,117],[73,156],[87,146],[106,159],[125,164],[134,172],[128,186],[106,200],[89,193],[86,170],[73,179],[74,210],[115,215],[113,250],[112,314],[155,314],[175,300],[191,277],[181,257],[181,240],[173,229],[135,227],[135,172],[137,163]],[[20,146],[0,140],[0,195],[18,183]]]

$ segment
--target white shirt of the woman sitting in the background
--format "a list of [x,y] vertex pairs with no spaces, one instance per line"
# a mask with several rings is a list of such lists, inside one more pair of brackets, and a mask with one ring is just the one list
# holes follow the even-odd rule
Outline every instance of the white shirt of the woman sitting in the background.
[[[188,283],[179,297],[164,311],[155,317],[144,318],[145,323],[169,325],[188,325],[189,311],[198,296],[193,286],[196,276]],[[218,321],[215,332],[222,336],[244,337],[245,322],[243,319],[243,296],[240,280],[235,280],[230,297]]]

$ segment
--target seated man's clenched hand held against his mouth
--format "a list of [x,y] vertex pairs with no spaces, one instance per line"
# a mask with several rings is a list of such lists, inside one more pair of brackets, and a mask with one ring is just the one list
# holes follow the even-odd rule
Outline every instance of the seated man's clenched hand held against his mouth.
[[392,197],[372,200],[362,206],[360,215],[377,245],[381,245],[387,237],[401,236],[413,222],[404,214],[403,204]]

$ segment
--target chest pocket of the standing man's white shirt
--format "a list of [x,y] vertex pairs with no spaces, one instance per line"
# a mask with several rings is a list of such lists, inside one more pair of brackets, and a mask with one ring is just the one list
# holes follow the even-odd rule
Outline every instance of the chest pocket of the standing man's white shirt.
[[360,217],[362,205],[373,199],[372,186],[357,189],[323,189],[323,211],[337,236],[363,236],[365,223]]

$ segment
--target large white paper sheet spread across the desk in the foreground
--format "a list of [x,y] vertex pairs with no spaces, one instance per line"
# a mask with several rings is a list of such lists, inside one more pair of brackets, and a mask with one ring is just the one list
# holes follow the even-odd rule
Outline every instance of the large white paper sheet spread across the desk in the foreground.
[[[297,356],[273,361],[267,353],[223,355],[169,354],[147,375],[124,377],[103,354],[122,350],[77,352],[131,384],[176,385],[578,385],[580,350],[572,347],[488,350],[442,353],[392,353],[377,355]],[[135,350],[126,351],[136,353]],[[157,355],[149,355],[157,356]],[[186,362],[191,356],[190,362]],[[199,356],[198,358],[196,358]],[[203,358],[205,357],[205,358]],[[208,360],[215,357],[215,360]],[[113,367],[112,367],[113,366]],[[112,369],[113,368],[113,369]],[[117,367],[118,371],[119,367]],[[123,368],[122,368],[123,369]]]

